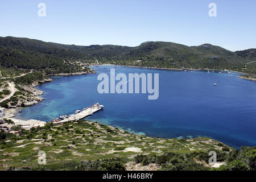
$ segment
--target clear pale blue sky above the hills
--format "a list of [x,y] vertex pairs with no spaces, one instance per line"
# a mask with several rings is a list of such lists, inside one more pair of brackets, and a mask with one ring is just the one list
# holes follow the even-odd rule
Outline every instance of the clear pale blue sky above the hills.
[[[46,17],[38,4],[46,4]],[[209,3],[217,17],[209,17]],[[1,0],[0,36],[76,44],[204,43],[256,48],[255,0]]]

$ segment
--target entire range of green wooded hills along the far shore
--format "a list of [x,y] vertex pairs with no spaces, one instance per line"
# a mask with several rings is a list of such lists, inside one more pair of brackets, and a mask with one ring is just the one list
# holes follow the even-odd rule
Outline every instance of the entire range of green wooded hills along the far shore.
[[[48,69],[72,72],[71,60],[164,68],[245,68],[255,72],[255,49],[232,52],[211,44],[184,46],[170,42],[146,42],[137,47],[75,46],[39,40],[0,38],[0,65],[5,68]],[[68,67],[67,67],[68,65]]]

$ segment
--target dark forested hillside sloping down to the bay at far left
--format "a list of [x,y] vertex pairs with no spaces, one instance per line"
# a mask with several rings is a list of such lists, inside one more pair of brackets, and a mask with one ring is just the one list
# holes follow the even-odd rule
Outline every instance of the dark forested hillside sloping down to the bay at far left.
[[[72,73],[81,67],[69,60],[82,59],[84,54],[52,43],[22,38],[0,38],[0,67],[11,69],[34,69],[49,74]],[[2,70],[1,69],[1,70]]]

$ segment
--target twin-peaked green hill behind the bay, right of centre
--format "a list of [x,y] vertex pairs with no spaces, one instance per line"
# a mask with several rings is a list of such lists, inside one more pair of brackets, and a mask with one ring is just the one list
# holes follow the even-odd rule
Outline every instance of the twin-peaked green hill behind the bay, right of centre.
[[234,69],[244,67],[245,62],[236,53],[210,44],[188,47],[169,42],[147,42],[129,52],[127,59],[142,60],[140,64],[148,67]]

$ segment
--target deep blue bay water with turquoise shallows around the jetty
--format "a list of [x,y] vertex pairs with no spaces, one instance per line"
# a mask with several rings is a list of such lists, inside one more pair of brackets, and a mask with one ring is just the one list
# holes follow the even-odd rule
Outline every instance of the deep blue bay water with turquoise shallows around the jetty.
[[100,102],[104,109],[86,119],[150,137],[203,136],[236,148],[256,146],[256,82],[238,78],[239,73],[118,66],[122,69],[115,69],[116,74],[159,73],[159,98],[148,100],[148,94],[99,94],[98,74],[109,75],[114,66],[93,68],[96,74],[53,77],[38,86],[46,100],[17,117],[51,121]]

